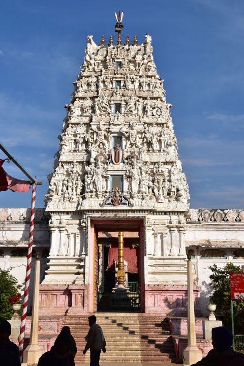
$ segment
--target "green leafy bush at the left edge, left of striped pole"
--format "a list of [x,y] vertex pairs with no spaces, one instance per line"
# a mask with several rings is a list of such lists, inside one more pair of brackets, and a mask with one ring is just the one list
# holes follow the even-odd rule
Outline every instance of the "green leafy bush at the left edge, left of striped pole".
[[9,303],[9,297],[18,292],[18,281],[10,273],[11,268],[0,268],[0,319],[11,319],[13,308]]

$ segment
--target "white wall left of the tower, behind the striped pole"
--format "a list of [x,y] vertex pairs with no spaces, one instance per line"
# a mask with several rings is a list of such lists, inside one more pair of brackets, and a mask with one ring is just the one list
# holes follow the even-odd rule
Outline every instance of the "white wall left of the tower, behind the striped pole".
[[[35,233],[33,242],[33,261],[31,283],[29,290],[28,309],[32,307],[33,283],[36,255],[40,258],[41,281],[45,277],[47,256],[49,253],[50,236],[44,208],[36,208]],[[24,292],[24,280],[27,261],[27,247],[29,236],[30,209],[1,208],[0,209],[0,268],[11,269],[11,273],[18,280],[20,293]]]

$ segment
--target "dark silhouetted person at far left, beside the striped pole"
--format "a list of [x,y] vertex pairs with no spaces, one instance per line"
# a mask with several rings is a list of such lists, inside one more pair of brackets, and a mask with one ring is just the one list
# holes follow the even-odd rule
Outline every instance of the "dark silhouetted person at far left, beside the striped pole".
[[10,341],[11,324],[7,320],[0,323],[0,364],[4,366],[20,366],[19,350]]

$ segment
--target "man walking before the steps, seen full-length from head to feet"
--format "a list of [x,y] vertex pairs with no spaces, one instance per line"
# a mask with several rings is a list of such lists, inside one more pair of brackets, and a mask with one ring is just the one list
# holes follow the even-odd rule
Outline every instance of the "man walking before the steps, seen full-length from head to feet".
[[90,366],[99,366],[101,350],[103,350],[103,353],[106,352],[106,341],[103,330],[96,321],[97,318],[95,315],[88,317],[90,329],[85,336],[86,345],[83,354],[86,354],[86,351],[90,349]]

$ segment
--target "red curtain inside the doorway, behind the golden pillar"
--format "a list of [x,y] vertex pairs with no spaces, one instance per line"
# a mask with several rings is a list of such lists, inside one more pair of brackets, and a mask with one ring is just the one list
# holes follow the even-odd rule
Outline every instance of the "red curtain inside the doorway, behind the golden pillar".
[[[128,263],[128,272],[138,273],[138,247],[124,247],[124,259]],[[115,262],[118,260],[118,248],[111,247],[108,252],[108,267],[106,270],[115,271]]]

